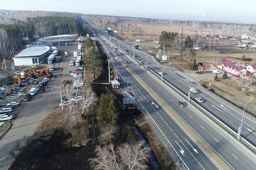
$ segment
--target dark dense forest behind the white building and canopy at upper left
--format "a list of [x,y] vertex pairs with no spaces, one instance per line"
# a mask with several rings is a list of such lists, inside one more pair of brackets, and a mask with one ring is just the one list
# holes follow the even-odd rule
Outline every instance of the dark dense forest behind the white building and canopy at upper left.
[[0,57],[16,54],[37,38],[62,34],[86,35],[89,27],[80,16],[45,16],[27,18],[17,24],[0,24]]

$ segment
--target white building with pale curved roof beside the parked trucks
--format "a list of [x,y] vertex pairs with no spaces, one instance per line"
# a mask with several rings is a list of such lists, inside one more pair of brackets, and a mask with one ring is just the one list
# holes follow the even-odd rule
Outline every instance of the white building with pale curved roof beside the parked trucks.
[[50,47],[30,45],[17,54],[13,60],[15,66],[41,64],[47,60]]

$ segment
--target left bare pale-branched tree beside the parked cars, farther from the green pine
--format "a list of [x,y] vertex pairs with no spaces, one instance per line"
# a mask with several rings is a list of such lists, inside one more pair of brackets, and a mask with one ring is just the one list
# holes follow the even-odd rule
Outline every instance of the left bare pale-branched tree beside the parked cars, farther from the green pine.
[[77,122],[79,122],[79,105],[77,105],[76,102],[71,101],[71,97],[74,92],[74,87],[70,84],[67,84],[64,86],[63,91],[65,94],[65,97],[69,101],[69,106],[66,112],[66,115],[64,117],[64,122],[67,122],[67,126],[72,129],[76,127]]

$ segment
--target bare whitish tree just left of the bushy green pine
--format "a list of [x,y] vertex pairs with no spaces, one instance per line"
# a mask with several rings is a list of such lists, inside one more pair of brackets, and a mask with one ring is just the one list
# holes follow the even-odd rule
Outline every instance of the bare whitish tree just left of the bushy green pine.
[[89,108],[96,106],[98,98],[94,92],[92,92],[91,88],[88,86],[84,86],[81,88],[81,95],[83,97],[81,103],[82,115],[85,111],[88,111]]

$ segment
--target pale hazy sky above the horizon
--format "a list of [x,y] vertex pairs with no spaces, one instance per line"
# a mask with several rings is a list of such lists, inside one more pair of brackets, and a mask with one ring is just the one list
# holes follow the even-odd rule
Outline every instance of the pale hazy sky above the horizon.
[[256,22],[256,0],[0,0],[0,9],[83,14]]

